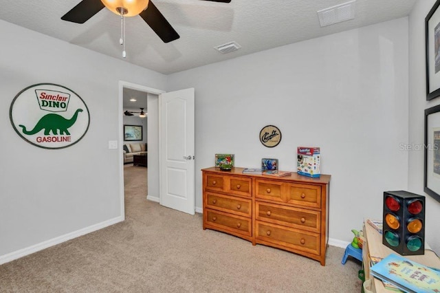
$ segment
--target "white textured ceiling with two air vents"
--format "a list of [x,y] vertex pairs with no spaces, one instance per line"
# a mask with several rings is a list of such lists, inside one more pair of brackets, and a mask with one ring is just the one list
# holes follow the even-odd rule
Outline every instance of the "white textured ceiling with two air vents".
[[[417,0],[356,0],[355,19],[321,28],[317,11],[349,0],[153,0],[179,33],[163,43],[139,17],[126,19],[126,58],[171,74],[318,36],[360,28],[409,14]],[[84,24],[60,18],[80,0],[1,0],[0,19],[122,59],[120,17],[103,9]],[[221,54],[214,46],[236,41],[241,49]]]

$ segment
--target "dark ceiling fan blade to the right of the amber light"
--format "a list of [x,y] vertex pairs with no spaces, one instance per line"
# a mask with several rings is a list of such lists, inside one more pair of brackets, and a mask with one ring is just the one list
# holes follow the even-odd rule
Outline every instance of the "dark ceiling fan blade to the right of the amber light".
[[173,29],[173,27],[168,23],[165,17],[160,13],[157,7],[150,1],[148,3],[148,8],[140,12],[140,17],[144,19],[151,29],[159,36],[164,43],[174,41],[180,38],[179,34]]

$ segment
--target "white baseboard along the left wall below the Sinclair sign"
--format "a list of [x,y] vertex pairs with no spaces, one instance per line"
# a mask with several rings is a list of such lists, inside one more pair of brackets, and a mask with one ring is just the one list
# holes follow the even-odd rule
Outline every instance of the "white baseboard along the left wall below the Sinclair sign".
[[14,252],[10,252],[8,254],[4,254],[0,256],[0,265],[3,263],[8,263],[10,261],[13,261],[14,259],[19,259],[21,257],[25,257],[26,255],[32,254],[34,252],[43,250],[45,248],[50,248],[51,246],[55,246],[59,243],[63,243],[67,240],[74,239],[76,237],[80,237],[83,235],[86,235],[90,232],[94,232],[96,230],[100,230],[102,228],[105,228],[107,226],[111,226],[113,224],[119,223],[120,221],[124,221],[122,217],[115,217],[113,219],[109,219],[107,221],[102,221],[101,223],[76,230],[74,232],[67,233],[65,235],[61,235],[59,237],[55,237],[53,239],[43,241],[41,243],[35,244],[33,246],[29,246],[28,248],[23,248]]

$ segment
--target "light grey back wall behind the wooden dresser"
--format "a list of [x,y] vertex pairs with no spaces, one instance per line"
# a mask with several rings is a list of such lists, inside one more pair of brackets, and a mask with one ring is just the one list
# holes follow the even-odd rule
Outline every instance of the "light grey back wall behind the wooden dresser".
[[[408,18],[278,47],[168,76],[195,88],[196,206],[215,153],[236,166],[278,158],[296,170],[297,146],[320,146],[331,174],[329,233],[351,241],[364,217],[382,218],[384,191],[408,187]],[[273,149],[259,131],[282,132]]]

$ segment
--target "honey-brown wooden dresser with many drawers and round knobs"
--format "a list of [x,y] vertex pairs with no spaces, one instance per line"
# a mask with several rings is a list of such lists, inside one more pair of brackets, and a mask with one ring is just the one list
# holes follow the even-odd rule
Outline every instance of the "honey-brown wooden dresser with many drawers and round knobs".
[[309,178],[203,169],[203,229],[302,254],[325,265],[330,175]]

